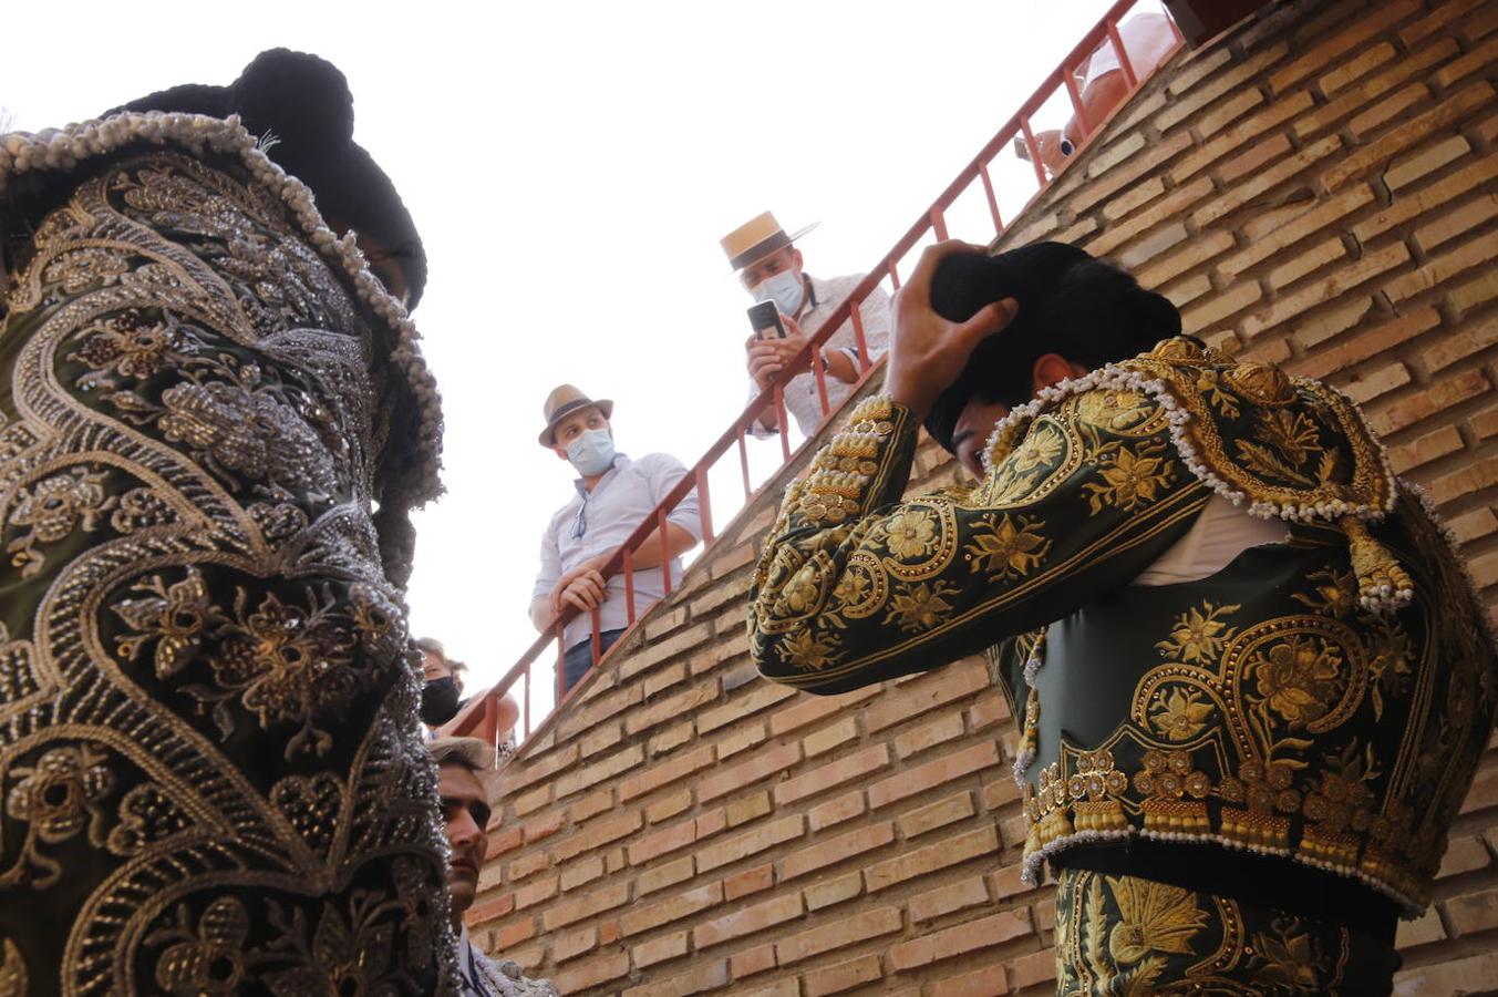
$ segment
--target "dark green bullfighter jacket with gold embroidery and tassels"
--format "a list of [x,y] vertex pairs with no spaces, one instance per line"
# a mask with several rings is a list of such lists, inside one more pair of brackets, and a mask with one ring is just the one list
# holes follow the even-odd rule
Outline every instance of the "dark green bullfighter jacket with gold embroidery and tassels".
[[[975,489],[902,502],[914,448],[911,414],[869,399],[791,487],[750,597],[762,675],[837,693],[992,645],[1032,876],[1082,843],[1189,840],[1429,903],[1498,663],[1350,402],[1176,339],[1014,411]],[[1213,493],[1291,538],[1131,586]]]

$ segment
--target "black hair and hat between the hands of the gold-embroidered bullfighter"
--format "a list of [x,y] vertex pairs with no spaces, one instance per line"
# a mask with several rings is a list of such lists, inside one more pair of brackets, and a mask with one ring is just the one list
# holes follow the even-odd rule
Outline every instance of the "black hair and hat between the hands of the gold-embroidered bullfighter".
[[1031,399],[1035,361],[1046,354],[1095,370],[1180,334],[1176,306],[1140,288],[1129,273],[1080,249],[1035,252],[1041,246],[1061,244],[1038,243],[987,258],[951,256],[936,271],[932,306],[950,321],[966,321],[1005,297],[1019,303],[1014,321],[972,351],[926,418],[926,432],[947,451],[953,451],[951,435],[969,399],[1023,405]]

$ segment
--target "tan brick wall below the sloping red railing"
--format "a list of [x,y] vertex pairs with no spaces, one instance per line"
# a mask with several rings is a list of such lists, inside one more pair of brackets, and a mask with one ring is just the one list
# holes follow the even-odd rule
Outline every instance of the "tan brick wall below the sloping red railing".
[[[1161,73],[1001,240],[1110,255],[1188,331],[1353,394],[1483,586],[1495,54],[1480,0],[1266,9]],[[953,475],[927,442],[915,484]],[[1014,729],[984,663],[831,699],[755,676],[743,595],[773,492],[511,765],[476,936],[563,993],[1047,993],[1053,904],[1019,882]],[[1498,744],[1437,906],[1401,930],[1404,993],[1498,987],[1495,852]]]

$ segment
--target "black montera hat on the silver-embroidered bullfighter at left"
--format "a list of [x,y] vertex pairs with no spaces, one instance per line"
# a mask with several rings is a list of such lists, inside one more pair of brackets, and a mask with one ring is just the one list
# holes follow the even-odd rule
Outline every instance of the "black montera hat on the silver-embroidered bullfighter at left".
[[406,285],[409,307],[427,286],[427,252],[385,171],[354,141],[354,94],[337,66],[286,48],[264,51],[226,87],[183,84],[114,108],[240,115],[282,169],[309,187],[324,219],[382,243]]

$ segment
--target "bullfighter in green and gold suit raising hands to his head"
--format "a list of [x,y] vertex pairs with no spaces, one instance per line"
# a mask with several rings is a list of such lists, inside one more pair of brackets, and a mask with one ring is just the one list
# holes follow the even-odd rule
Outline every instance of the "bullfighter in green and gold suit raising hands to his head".
[[[977,249],[927,250],[885,394],[786,495],[761,673],[989,648],[1059,993],[1389,993],[1498,693],[1458,555],[1336,391],[1082,250]],[[902,501],[923,420],[975,487]]]

